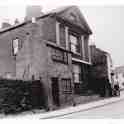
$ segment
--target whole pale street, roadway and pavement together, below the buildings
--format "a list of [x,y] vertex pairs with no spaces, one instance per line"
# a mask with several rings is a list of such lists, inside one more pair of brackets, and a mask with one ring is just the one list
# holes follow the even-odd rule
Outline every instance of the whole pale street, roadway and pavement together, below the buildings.
[[1,115],[0,118],[16,119],[123,119],[124,118],[124,91],[120,97],[106,98],[104,100],[63,108],[56,111],[37,112],[27,111],[17,115]]

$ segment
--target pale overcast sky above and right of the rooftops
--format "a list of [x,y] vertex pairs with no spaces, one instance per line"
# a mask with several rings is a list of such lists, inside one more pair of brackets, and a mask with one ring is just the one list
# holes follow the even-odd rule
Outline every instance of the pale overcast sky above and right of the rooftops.
[[[18,1],[18,2],[16,2]],[[37,2],[36,2],[37,1]],[[4,0],[0,3],[0,23],[15,18],[23,20],[26,5],[41,5],[44,12],[65,5],[78,5],[93,31],[91,41],[96,46],[107,50],[113,59],[114,65],[124,65],[124,5],[123,6],[84,6],[75,0]]]

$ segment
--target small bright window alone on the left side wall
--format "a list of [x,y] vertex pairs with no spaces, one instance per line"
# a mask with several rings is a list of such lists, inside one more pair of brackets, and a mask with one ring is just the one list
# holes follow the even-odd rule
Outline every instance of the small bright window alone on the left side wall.
[[16,56],[18,54],[19,49],[22,47],[21,45],[22,45],[22,43],[21,43],[21,41],[18,38],[14,39],[12,41],[13,55]]

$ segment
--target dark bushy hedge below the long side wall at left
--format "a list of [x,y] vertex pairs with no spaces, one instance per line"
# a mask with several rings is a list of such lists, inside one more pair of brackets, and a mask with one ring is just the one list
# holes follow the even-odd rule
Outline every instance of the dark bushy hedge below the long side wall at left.
[[[37,82],[37,83],[36,83]],[[0,80],[2,99],[0,110],[5,114],[16,113],[43,106],[40,81]]]

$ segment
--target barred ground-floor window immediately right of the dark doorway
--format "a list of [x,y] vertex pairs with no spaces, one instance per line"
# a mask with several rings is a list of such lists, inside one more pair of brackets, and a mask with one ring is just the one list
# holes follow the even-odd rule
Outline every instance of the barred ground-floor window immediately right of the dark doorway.
[[64,93],[72,93],[71,79],[62,79],[61,84]]

